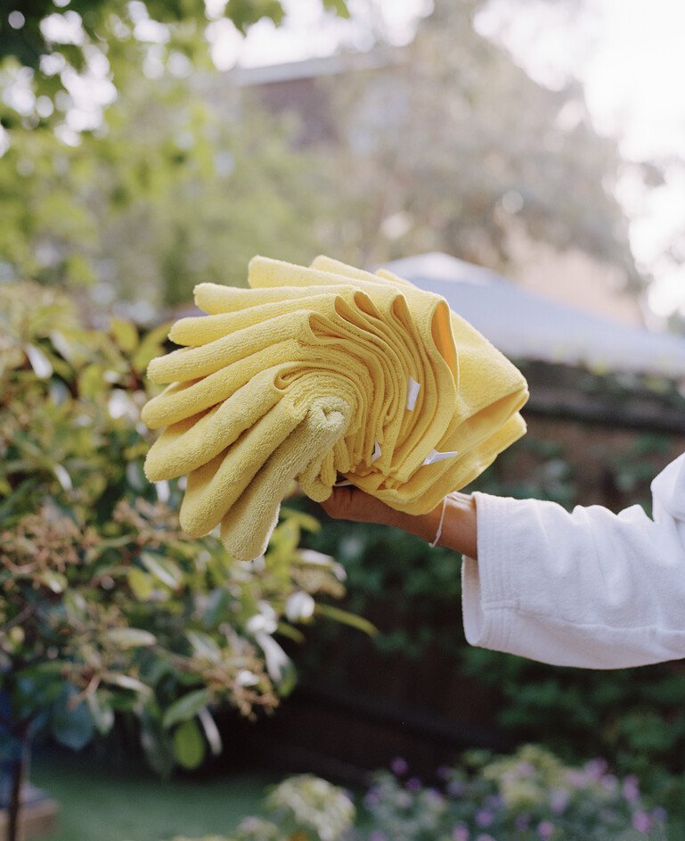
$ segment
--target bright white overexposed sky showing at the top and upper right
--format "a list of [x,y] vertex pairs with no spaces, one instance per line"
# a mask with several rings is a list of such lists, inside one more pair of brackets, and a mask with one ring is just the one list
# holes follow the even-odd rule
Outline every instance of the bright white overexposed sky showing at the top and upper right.
[[[209,0],[209,4],[214,0]],[[221,0],[216,0],[221,3]],[[374,32],[396,45],[411,41],[429,0],[350,0],[352,21],[322,12],[319,0],[285,0],[284,26],[261,21],[243,41],[217,21],[208,35],[214,58],[227,69],[297,61],[339,45],[371,46]],[[477,29],[504,45],[536,81],[560,87],[580,79],[601,133],[620,138],[628,161],[685,161],[685,2],[682,0],[490,0]],[[685,234],[685,165],[669,166],[665,186],[640,189],[627,171],[618,197],[632,219],[632,250],[655,276],[648,295],[657,317],[685,315],[685,268],[665,259],[674,236]]]

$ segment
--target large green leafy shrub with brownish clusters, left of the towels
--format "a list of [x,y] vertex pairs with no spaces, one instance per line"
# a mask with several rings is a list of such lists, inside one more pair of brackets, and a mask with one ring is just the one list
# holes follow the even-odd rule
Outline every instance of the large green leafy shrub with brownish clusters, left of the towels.
[[134,713],[151,766],[194,768],[217,705],[272,710],[293,685],[277,641],[331,610],[342,569],[299,548],[284,511],[265,557],[236,563],[177,526],[177,482],[143,475],[143,371],[167,326],[86,329],[68,298],[0,285],[0,751],[52,734],[78,749]]

